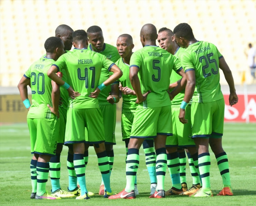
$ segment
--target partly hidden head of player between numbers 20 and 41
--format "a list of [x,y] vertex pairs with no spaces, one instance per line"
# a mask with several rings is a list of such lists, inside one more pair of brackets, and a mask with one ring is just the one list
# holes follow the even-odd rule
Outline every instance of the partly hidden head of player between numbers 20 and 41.
[[55,30],[55,36],[63,41],[65,50],[70,50],[72,48],[72,34],[73,29],[66,24],[59,25]]

